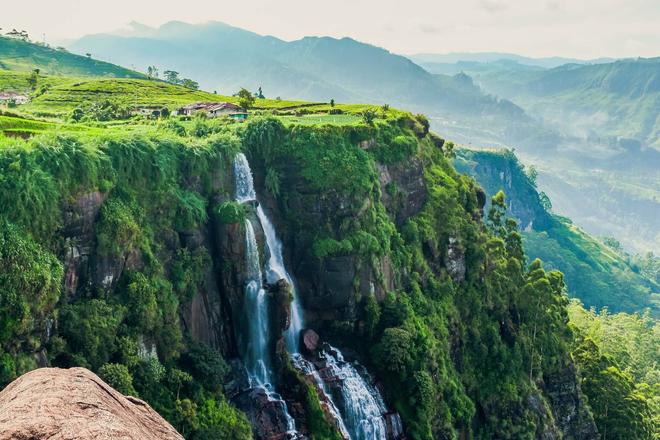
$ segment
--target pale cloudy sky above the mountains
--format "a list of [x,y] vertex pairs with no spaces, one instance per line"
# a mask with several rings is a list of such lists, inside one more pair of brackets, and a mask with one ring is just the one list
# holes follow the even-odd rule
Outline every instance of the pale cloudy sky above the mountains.
[[51,44],[171,20],[352,37],[400,54],[660,56],[660,0],[0,0],[0,28]]

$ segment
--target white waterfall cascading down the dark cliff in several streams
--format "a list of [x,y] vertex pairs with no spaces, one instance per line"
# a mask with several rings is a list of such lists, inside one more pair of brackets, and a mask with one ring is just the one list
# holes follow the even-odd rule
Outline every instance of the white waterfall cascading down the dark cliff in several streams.
[[[240,203],[256,201],[256,192],[249,163],[242,153],[234,161],[236,178],[236,200]],[[325,368],[318,370],[316,365],[306,360],[299,353],[299,337],[303,329],[304,316],[298,298],[296,283],[286,270],[282,255],[282,243],[277,238],[273,224],[266,213],[257,204],[257,217],[266,236],[268,259],[265,272],[269,284],[284,279],[291,286],[293,295],[291,303],[291,321],[285,332],[287,349],[292,354],[294,365],[303,373],[311,376],[317,389],[328,403],[328,411],[337,422],[337,429],[350,440],[386,440],[387,428],[384,414],[387,412],[378,390],[362,377],[356,366],[346,362],[341,352],[330,347],[321,352],[320,358]],[[286,404],[272,390],[272,368],[268,351],[268,297],[263,288],[260,269],[259,250],[254,234],[254,228],[246,220],[246,244],[248,258],[248,282],[246,284],[246,305],[248,307],[249,342],[246,351],[246,367],[252,386],[260,386],[269,391],[274,401],[284,406],[289,420],[290,432],[295,432],[295,423],[286,410]],[[401,434],[399,425],[392,429],[393,438]]]

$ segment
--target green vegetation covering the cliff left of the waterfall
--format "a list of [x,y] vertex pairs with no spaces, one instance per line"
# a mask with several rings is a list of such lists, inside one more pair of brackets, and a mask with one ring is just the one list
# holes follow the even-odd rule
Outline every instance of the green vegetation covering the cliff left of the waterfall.
[[[163,254],[166,237],[207,221],[210,170],[237,150],[229,134],[200,140],[157,127],[1,140],[2,384],[36,367],[29,353],[57,320],[46,346],[53,365],[97,371],[146,399],[187,438],[250,438],[245,417],[223,396],[223,358],[193,343],[180,323],[181,304],[204,283],[208,253],[178,245]],[[202,178],[196,188],[186,183],[193,176]],[[96,258],[123,270],[111,284],[71,297],[61,292],[64,270],[54,256],[60,210],[95,191],[104,200],[92,232]]]

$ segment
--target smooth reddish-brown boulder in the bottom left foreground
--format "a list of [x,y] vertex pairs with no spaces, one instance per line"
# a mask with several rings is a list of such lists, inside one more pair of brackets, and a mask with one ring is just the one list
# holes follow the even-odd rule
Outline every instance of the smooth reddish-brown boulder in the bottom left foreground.
[[84,368],[41,368],[0,392],[0,440],[183,440],[149,405]]

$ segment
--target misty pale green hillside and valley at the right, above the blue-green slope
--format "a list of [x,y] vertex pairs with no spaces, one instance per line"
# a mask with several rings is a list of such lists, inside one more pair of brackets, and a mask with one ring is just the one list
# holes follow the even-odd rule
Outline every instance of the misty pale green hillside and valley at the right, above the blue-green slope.
[[560,212],[635,249],[660,249],[660,58],[474,78],[565,136],[560,156],[526,151]]

